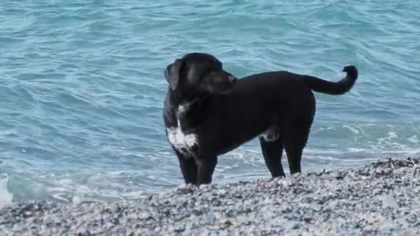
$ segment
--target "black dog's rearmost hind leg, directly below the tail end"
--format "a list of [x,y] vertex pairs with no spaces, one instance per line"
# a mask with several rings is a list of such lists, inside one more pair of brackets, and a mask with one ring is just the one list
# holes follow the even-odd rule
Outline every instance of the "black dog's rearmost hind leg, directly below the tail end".
[[295,119],[292,124],[285,126],[283,145],[285,146],[289,170],[292,175],[302,171],[300,161],[302,159],[303,148],[307,144],[311,125],[312,117],[305,116],[304,119]]

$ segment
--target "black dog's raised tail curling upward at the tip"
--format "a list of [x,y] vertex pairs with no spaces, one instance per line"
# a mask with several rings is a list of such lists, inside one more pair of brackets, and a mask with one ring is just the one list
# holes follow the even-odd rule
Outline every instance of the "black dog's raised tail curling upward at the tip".
[[359,75],[356,66],[345,66],[343,72],[346,72],[347,75],[337,82],[326,81],[310,75],[304,75],[303,79],[309,88],[315,92],[322,92],[328,95],[343,95],[352,89]]

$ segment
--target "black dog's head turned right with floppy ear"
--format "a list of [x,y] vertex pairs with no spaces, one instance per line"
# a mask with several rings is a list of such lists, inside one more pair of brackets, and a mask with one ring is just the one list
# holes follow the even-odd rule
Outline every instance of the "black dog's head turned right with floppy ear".
[[164,72],[171,90],[228,93],[236,77],[223,70],[222,63],[206,53],[193,52],[176,59]]

